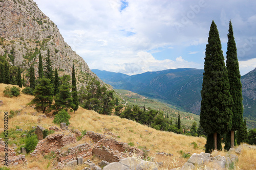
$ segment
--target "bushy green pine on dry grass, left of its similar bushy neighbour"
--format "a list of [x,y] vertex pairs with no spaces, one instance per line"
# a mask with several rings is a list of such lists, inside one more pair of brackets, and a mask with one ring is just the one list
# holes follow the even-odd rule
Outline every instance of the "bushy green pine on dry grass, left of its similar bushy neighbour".
[[39,84],[33,91],[35,98],[29,104],[35,104],[36,109],[42,111],[42,113],[50,111],[50,107],[53,101],[53,88],[50,83],[50,79],[42,78],[39,80]]

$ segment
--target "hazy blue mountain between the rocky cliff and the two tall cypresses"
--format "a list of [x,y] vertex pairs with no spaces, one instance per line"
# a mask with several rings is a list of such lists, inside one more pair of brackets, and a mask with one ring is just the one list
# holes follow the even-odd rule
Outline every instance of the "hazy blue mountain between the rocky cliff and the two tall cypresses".
[[92,71],[115,89],[130,90],[163,99],[185,111],[200,113],[203,69],[178,68],[144,72],[133,76],[95,69]]

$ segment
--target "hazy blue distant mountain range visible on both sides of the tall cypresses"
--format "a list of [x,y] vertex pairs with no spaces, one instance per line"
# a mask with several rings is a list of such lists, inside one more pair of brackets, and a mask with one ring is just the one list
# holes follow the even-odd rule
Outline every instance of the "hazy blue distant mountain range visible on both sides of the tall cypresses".
[[[203,69],[178,68],[128,76],[121,73],[92,71],[114,89],[125,89],[151,98],[162,99],[191,113],[200,114]],[[256,68],[241,77],[244,116],[256,128]]]

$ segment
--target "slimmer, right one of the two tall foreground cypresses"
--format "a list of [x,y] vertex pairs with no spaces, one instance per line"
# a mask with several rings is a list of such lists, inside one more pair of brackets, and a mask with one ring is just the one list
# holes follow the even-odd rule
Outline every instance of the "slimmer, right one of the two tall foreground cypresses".
[[[229,21],[227,42],[227,72],[230,84],[230,94],[233,99],[232,105],[232,128],[230,133],[230,146],[234,147],[234,131],[239,130],[240,124],[243,121],[243,96],[242,96],[242,83],[239,71],[239,63],[237,57],[237,47],[234,41],[233,29],[231,21]],[[229,136],[229,135],[228,135]]]

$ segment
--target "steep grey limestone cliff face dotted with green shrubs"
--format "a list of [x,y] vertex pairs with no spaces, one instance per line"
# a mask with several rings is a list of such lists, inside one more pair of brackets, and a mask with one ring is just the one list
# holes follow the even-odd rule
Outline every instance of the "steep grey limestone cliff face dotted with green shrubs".
[[104,84],[32,0],[0,1],[0,16],[0,55],[6,55],[10,64],[20,65],[25,70],[34,64],[37,76],[38,51],[44,60],[49,48],[53,67],[58,69],[59,75],[71,75],[74,63],[79,87],[86,85],[91,78]]

